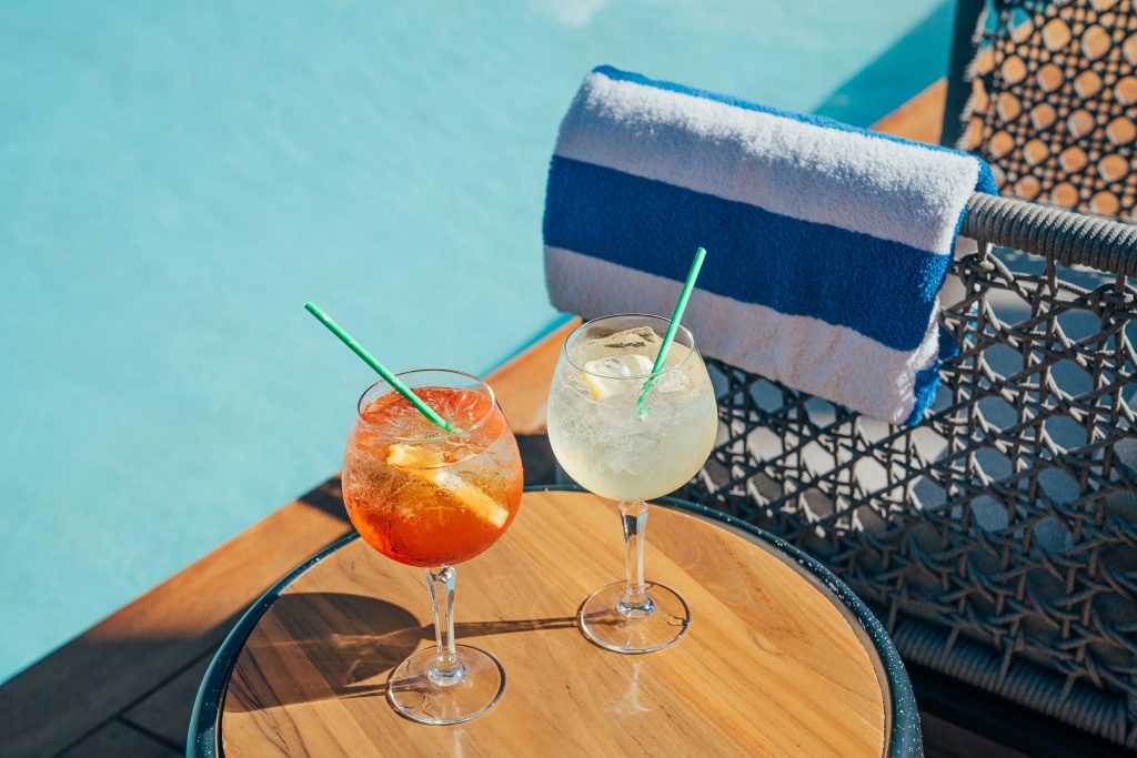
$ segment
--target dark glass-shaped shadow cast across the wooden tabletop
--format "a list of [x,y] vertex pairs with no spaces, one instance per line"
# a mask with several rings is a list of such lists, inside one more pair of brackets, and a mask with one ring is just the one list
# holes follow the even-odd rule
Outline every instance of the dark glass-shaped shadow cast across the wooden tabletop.
[[[464,622],[455,624],[455,634],[460,643],[489,634],[575,626],[575,616]],[[405,608],[384,600],[339,592],[282,594],[241,651],[225,710],[383,697],[391,669],[433,640],[432,624],[422,625]]]

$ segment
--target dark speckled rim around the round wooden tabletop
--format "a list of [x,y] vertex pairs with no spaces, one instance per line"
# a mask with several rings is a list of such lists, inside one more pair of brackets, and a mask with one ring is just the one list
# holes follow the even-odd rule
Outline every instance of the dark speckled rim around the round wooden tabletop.
[[[525,492],[587,492],[587,490],[571,484],[539,484],[526,486]],[[735,528],[741,530],[769,545],[780,550],[792,558],[802,568],[820,578],[848,608],[853,616],[861,624],[877,649],[878,656],[885,667],[885,676],[888,683],[888,706],[891,708],[889,722],[891,727],[888,739],[888,755],[893,758],[923,755],[923,739],[920,730],[920,714],[916,709],[915,695],[912,692],[912,683],[908,680],[907,670],[901,660],[896,645],[885,631],[880,619],[864,605],[840,578],[825,568],[820,561],[803,552],[792,544],[779,536],[770,534],[765,530],[758,528],[754,524],[736,518],[730,514],[700,506],[680,498],[656,498],[653,505],[664,506],[674,510],[687,511],[703,518],[721,522]],[[236,659],[241,655],[244,641],[256,627],[260,617],[276,601],[276,598],[292,585],[298,578],[305,575],[316,564],[339,551],[347,544],[359,539],[358,532],[351,532],[327,547],[323,548],[315,556],[304,561],[257,599],[241,618],[233,626],[233,630],[221,643],[217,653],[209,663],[206,675],[201,680],[197,698],[193,700],[193,711],[190,716],[190,728],[186,735],[185,755],[186,758],[219,758],[221,747],[221,718],[224,713],[225,691],[229,688],[229,680]]]

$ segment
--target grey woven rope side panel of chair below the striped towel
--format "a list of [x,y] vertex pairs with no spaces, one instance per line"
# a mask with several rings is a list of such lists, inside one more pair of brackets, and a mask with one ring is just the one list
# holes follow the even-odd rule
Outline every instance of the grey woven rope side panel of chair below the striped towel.
[[[944,324],[961,352],[916,428],[709,361],[721,442],[683,494],[825,561],[903,655],[1134,745],[1137,289],[1057,269],[987,245],[956,261]],[[906,643],[904,619],[943,649]],[[953,660],[969,650],[993,670]]]

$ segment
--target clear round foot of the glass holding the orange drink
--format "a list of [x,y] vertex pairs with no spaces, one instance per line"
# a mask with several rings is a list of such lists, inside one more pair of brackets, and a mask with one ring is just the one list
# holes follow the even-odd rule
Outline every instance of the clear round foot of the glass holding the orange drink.
[[[460,724],[478,718],[501,699],[505,669],[498,659],[478,648],[456,645],[462,676],[447,682],[433,674],[438,655],[434,648],[414,653],[391,672],[387,699],[395,709],[420,724]],[[435,683],[437,682],[437,683]]]

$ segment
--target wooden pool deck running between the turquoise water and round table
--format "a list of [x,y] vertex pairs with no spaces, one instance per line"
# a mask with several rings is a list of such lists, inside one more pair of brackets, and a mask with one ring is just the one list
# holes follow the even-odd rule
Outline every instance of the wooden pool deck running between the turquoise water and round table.
[[[937,142],[940,81],[874,128]],[[576,322],[489,376],[536,461],[545,397],[559,347]],[[526,463],[526,478],[548,472]],[[332,478],[234,536],[0,686],[5,756],[184,755],[190,709],[214,651],[240,614],[297,564],[351,530]],[[1021,755],[924,714],[929,756]]]

